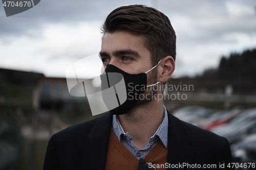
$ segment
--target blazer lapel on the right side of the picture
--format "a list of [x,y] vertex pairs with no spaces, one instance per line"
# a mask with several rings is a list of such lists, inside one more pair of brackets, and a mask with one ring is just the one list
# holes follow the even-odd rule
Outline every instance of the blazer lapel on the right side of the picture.
[[[172,165],[183,163],[193,164],[194,148],[189,146],[191,142],[181,120],[168,112],[168,157],[167,162]],[[178,166],[176,168],[182,168]],[[182,168],[190,169],[190,168]]]

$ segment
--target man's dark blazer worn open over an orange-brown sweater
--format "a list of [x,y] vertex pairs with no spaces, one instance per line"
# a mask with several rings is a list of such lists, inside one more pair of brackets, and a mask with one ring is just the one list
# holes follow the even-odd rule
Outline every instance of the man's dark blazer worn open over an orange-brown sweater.
[[[217,168],[212,169],[223,169],[219,168],[220,164],[227,166],[232,162],[229,143],[224,137],[185,123],[169,112],[168,124],[168,163],[200,164],[201,168],[203,164],[216,164]],[[54,134],[48,143],[44,170],[103,170],[111,125],[112,114],[108,112]]]

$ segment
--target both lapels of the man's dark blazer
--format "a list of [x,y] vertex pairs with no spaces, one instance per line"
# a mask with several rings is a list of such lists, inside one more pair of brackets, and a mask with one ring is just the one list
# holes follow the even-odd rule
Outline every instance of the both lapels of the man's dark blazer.
[[[193,163],[194,148],[181,120],[168,114],[168,157],[170,164]],[[88,142],[82,145],[82,169],[104,169],[108,152],[112,124],[110,112],[99,117],[88,135]]]

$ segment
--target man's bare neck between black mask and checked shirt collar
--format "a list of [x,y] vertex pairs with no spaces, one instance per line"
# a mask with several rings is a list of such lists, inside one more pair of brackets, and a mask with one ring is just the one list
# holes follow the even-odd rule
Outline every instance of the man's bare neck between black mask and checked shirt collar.
[[134,107],[129,112],[118,115],[124,132],[129,132],[137,149],[148,144],[164,118],[163,102],[153,100],[146,104]]

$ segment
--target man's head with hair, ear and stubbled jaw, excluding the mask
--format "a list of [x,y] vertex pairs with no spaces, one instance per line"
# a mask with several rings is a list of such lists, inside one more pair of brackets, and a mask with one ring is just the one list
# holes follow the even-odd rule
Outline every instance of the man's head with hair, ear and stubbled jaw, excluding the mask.
[[[146,85],[165,84],[175,69],[176,35],[167,16],[142,5],[120,7],[112,11],[102,26],[100,57],[103,69],[114,65],[128,74],[146,74]],[[157,84],[153,87],[159,87]],[[145,87],[144,87],[145,88]],[[137,105],[153,100],[162,88],[146,88]],[[147,95],[151,94],[151,95]]]

